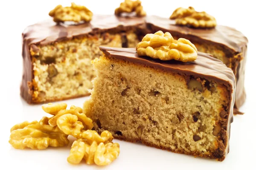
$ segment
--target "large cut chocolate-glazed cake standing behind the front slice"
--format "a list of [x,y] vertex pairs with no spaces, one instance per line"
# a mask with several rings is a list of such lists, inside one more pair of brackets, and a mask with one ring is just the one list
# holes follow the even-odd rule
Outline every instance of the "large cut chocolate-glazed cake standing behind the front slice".
[[[91,13],[92,19],[85,23],[47,20],[26,28],[23,31],[21,96],[28,103],[40,103],[89,95],[91,80],[96,75],[90,61],[102,55],[99,45],[135,47],[145,34],[161,30],[170,32],[176,39],[183,37],[190,40],[198,51],[210,53],[232,68],[237,82],[235,108],[244,103],[247,38],[241,32],[226,26],[209,28],[205,25],[202,28],[199,25],[195,28],[197,25],[188,22],[182,25],[180,23],[184,22],[182,17],[178,18],[181,16],[179,10],[174,12],[172,19],[168,19],[142,17],[145,11],[142,11],[140,4],[129,6],[137,16],[123,15],[122,7],[116,9],[115,15],[92,16]],[[191,12],[191,8],[188,9]],[[50,15],[58,21],[60,18],[54,15],[56,10],[58,8]],[[191,14],[193,12],[206,14],[193,10]],[[177,20],[181,20],[180,23]]]

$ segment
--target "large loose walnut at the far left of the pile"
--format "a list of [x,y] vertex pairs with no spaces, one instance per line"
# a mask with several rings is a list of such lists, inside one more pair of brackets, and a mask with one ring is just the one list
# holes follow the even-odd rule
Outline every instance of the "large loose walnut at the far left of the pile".
[[[63,147],[69,144],[67,135],[57,126],[48,124],[49,118],[43,117],[38,123],[22,123],[12,127],[9,143],[15,149],[45,149],[48,146]],[[25,126],[28,124],[27,126]]]

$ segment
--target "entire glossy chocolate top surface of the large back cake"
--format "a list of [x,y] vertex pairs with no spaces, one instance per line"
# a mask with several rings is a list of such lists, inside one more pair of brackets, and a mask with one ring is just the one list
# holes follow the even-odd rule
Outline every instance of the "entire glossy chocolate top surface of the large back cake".
[[29,44],[40,43],[41,45],[56,40],[71,39],[83,36],[91,32],[104,32],[111,29],[125,29],[131,26],[139,26],[146,23],[153,26],[157,31],[177,31],[179,34],[192,35],[200,39],[219,43],[240,53],[241,46],[247,45],[247,38],[234,28],[216,26],[213,29],[189,28],[175,25],[175,20],[169,18],[148,17],[117,17],[115,15],[93,15],[90,23],[73,24],[72,22],[57,25],[52,19],[28,26],[23,31],[23,39]]

